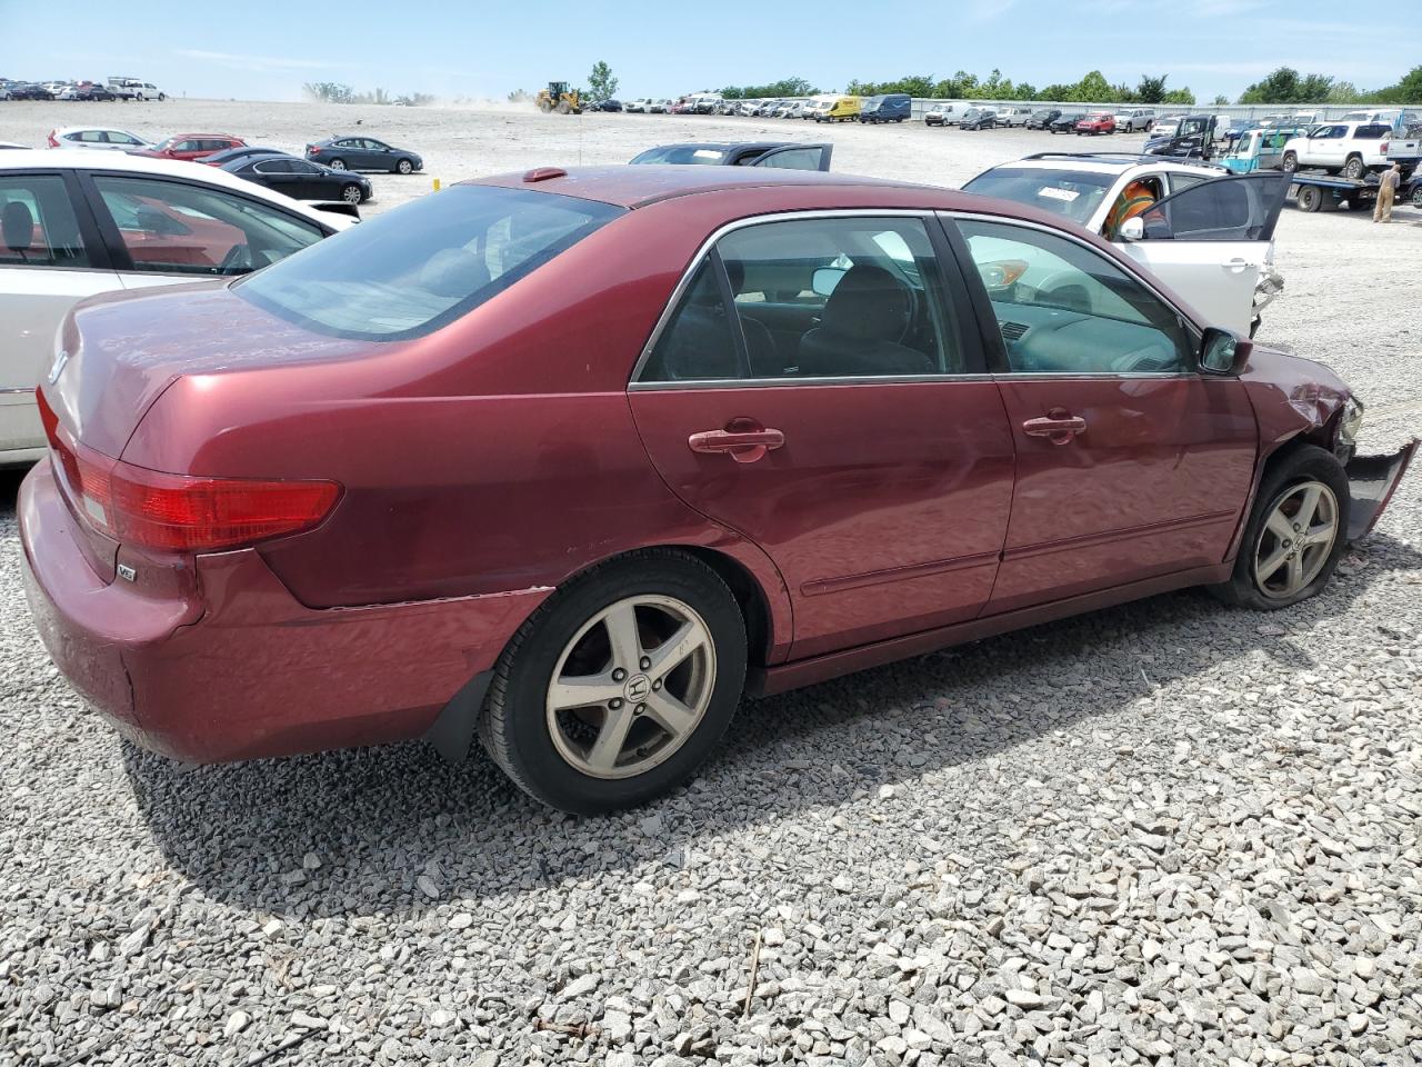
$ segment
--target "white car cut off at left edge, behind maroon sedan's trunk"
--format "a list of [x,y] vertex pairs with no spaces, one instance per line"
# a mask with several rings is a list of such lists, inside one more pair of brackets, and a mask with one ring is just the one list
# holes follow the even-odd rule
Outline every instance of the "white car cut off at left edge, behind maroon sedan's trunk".
[[34,388],[77,302],[246,273],[357,222],[203,164],[0,154],[0,467],[44,454]]

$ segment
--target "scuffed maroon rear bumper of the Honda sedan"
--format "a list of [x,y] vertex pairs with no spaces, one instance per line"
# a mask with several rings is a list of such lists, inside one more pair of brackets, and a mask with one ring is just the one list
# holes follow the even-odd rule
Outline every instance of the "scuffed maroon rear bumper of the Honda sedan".
[[26,596],[70,683],[121,733],[189,763],[424,734],[549,593],[313,610],[252,551],[198,558],[201,593],[105,582],[48,462],[20,487]]

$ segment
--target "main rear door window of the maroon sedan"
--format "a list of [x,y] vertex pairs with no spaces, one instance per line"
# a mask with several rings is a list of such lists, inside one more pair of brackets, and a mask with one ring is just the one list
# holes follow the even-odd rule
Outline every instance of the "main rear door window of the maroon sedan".
[[766,222],[717,243],[755,378],[963,370],[921,219]]

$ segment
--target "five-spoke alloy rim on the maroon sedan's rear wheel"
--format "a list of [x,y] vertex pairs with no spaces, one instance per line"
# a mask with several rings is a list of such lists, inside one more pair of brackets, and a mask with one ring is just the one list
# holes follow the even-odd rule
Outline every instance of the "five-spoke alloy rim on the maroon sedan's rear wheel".
[[630,778],[695,733],[715,690],[715,644],[671,596],[604,607],[563,647],[545,707],[553,747],[594,778]]

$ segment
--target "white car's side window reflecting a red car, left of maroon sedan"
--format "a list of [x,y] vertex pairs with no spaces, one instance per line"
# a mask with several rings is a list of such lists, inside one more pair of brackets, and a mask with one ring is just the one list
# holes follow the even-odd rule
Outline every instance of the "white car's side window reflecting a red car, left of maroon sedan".
[[134,270],[242,275],[314,245],[324,230],[205,185],[94,178]]

